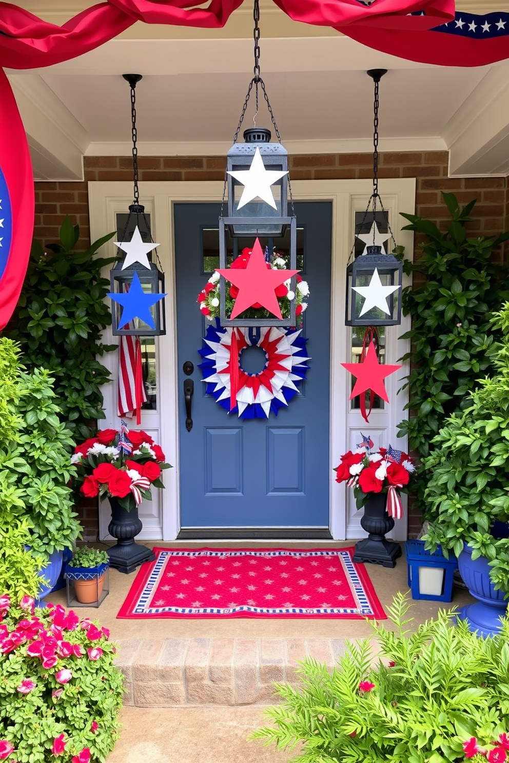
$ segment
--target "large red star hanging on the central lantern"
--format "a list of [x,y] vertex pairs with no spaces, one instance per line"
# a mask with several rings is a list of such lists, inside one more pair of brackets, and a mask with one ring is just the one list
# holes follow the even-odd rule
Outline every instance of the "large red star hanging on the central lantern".
[[250,256],[250,261],[245,269],[227,268],[218,269],[217,272],[239,288],[234,309],[231,311],[232,319],[258,302],[269,313],[281,320],[282,314],[278,298],[275,296],[275,289],[288,278],[292,278],[292,275],[298,273],[298,270],[267,268],[262,247],[259,240],[256,239],[253,254]]

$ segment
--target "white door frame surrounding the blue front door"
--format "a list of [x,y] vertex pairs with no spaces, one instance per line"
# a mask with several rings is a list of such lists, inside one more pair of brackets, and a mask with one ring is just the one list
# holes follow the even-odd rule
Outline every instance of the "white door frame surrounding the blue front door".
[[[175,240],[173,232],[173,204],[181,202],[218,201],[223,193],[221,181],[179,181],[179,182],[140,182],[140,199],[152,219],[153,239],[159,242],[158,255],[165,272],[166,298],[166,336],[157,341],[159,358],[158,411],[161,446],[166,459],[174,468],[166,472],[166,488],[162,491],[161,536],[163,540],[173,540],[180,530],[179,506],[179,404],[182,403],[178,387],[177,342],[176,342],[176,301],[172,298],[176,290]],[[415,179],[394,178],[379,181],[379,189],[389,212],[398,244],[405,247],[407,253],[413,252],[414,237],[408,230],[398,230],[399,212],[414,214]],[[346,391],[350,388],[350,375],[340,365],[350,362],[350,329],[345,327],[345,276],[346,264],[353,245],[354,211],[365,209],[372,193],[372,182],[362,180],[298,180],[292,182],[295,201],[331,201],[332,203],[332,266],[331,266],[331,311],[330,311],[330,532],[333,539],[346,538],[346,488],[337,485],[334,480],[333,466],[339,457],[350,447],[349,405]],[[129,182],[89,182],[90,232],[92,240],[114,230],[115,214],[126,212],[132,198],[132,184]],[[114,254],[114,245],[105,245],[106,256]],[[310,254],[312,256],[312,253]],[[313,304],[313,285],[310,284],[310,310],[320,309]],[[197,307],[198,309],[198,307]],[[404,318],[400,327],[390,332],[386,348],[386,362],[395,362],[408,352],[408,340],[398,340],[399,334],[410,328],[410,320]],[[105,332],[105,343],[111,343],[111,330]],[[112,357],[114,356],[114,357]],[[116,353],[110,353],[101,359],[116,379],[114,369]],[[408,417],[404,405],[408,400],[406,393],[396,395],[401,386],[401,378],[408,374],[408,364],[401,372],[386,380],[388,398],[391,406],[391,432],[389,436],[395,442],[395,425]],[[164,394],[162,393],[164,380]],[[116,428],[116,385],[110,383],[103,388],[107,419],[104,426]],[[142,422],[142,426],[144,426]],[[392,428],[394,427],[394,431]],[[366,427],[367,429],[367,427]],[[401,449],[406,448],[404,439],[398,440]],[[395,526],[393,537],[397,540],[406,538],[405,519]]]

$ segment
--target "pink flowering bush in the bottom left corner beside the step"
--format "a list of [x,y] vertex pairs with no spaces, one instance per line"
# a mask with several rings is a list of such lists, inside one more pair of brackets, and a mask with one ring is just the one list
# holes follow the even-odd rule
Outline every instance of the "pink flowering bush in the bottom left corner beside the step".
[[0,761],[105,761],[123,692],[113,657],[108,629],[0,597]]

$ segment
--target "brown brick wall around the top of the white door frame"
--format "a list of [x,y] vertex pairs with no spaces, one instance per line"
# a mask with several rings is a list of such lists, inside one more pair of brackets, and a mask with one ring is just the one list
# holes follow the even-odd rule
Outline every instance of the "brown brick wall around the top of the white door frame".
[[[477,199],[469,235],[488,236],[500,233],[509,225],[507,178],[448,178],[446,151],[381,153],[380,178],[416,178],[416,214],[445,228],[449,214],[441,192],[452,192],[460,204]],[[127,156],[85,156],[85,180],[82,182],[36,183],[34,237],[40,243],[58,240],[58,231],[66,214],[79,224],[81,244],[89,246],[89,180],[132,180],[132,159]],[[224,156],[141,156],[138,158],[140,180],[222,180]],[[320,154],[290,157],[292,180],[358,179],[372,177],[369,153]],[[415,249],[420,243],[415,239]],[[502,256],[502,253],[499,253]],[[418,283],[417,279],[414,281]],[[87,536],[98,526],[97,507],[83,504],[79,509]],[[409,534],[420,529],[420,514],[409,511]]]

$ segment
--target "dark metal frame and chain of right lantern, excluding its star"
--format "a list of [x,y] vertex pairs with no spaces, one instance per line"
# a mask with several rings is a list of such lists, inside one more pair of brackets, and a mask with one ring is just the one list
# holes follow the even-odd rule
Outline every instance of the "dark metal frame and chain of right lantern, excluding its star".
[[[369,197],[368,205],[364,213],[364,217],[359,226],[359,230],[362,230],[366,218],[370,209],[372,210],[373,224],[376,225],[376,208],[377,204],[382,211],[382,214],[387,224],[388,237],[392,240],[395,249],[397,244],[395,237],[392,233],[391,226],[388,221],[388,211],[385,210],[382,203],[382,198],[379,195],[379,82],[382,76],[387,73],[387,69],[369,69],[366,72],[375,83],[375,98],[374,98],[374,120],[373,120],[373,192]],[[374,243],[373,243],[374,244]],[[354,256],[355,243],[350,252],[350,258],[348,266],[346,267],[346,326],[398,326],[401,324],[401,291],[402,291],[402,279],[403,279],[403,263],[400,259],[397,259],[393,254],[382,253],[381,246],[367,246],[366,254]],[[364,298],[356,291],[353,291],[355,286],[366,286],[366,278],[374,275],[375,269],[381,276],[384,285],[398,285],[398,289],[387,297],[387,304],[390,310],[390,314],[384,314],[384,317],[373,316],[372,308],[369,314],[360,315],[362,311],[362,304]],[[362,278],[362,282],[359,279]],[[382,311],[379,310],[379,313]]]

